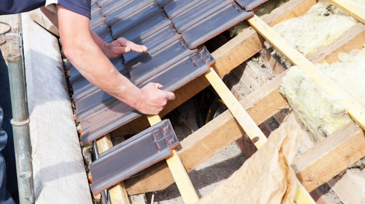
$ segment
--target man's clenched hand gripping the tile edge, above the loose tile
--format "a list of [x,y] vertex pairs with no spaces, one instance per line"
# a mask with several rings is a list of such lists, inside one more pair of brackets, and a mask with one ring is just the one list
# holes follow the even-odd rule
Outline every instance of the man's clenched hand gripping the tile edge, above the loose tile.
[[147,115],[157,115],[164,109],[168,100],[174,100],[175,95],[172,92],[162,91],[161,84],[148,83],[141,89],[141,101],[136,104],[137,111]]

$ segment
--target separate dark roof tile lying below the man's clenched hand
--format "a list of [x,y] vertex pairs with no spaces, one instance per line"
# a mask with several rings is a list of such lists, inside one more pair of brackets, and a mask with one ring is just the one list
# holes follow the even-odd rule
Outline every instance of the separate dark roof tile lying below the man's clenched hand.
[[[148,166],[165,159],[179,145],[168,119],[101,153],[90,164],[91,191],[99,193]],[[105,168],[108,166],[108,168]]]

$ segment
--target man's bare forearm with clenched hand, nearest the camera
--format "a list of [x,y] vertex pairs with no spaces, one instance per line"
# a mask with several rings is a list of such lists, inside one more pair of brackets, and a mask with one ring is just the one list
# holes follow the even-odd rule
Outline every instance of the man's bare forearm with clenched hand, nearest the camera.
[[94,42],[89,18],[58,4],[57,12],[64,53],[92,84],[145,114],[158,114],[167,100],[175,98],[173,93],[160,90],[160,84],[149,83],[142,89],[137,88],[115,69]]

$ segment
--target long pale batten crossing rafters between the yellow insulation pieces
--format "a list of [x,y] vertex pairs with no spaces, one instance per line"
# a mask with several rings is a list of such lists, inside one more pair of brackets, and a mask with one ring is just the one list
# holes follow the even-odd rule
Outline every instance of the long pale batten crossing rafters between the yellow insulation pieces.
[[365,129],[365,108],[355,101],[349,94],[340,88],[335,82],[317,69],[306,57],[294,49],[280,35],[273,31],[265,22],[256,15],[247,19],[247,22],[255,28],[265,39],[282,53],[294,65],[299,66],[304,73],[308,74],[314,82],[331,96],[339,96],[346,106],[351,118]]

